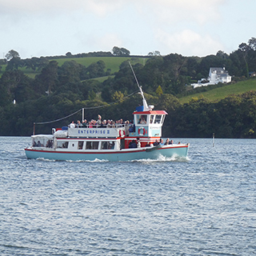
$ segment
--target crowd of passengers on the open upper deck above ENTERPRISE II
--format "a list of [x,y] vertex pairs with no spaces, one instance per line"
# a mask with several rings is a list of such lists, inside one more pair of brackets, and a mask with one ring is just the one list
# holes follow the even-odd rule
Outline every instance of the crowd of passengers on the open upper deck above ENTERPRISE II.
[[122,118],[114,121],[114,120],[102,120],[102,116],[100,114],[98,114],[98,120],[94,120],[91,119],[89,122],[87,122],[86,119],[82,120],[82,122],[80,122],[78,120],[77,123],[74,123],[74,121],[72,121],[70,123],[70,128],[80,128],[80,127],[84,127],[84,128],[119,128],[119,127],[123,127],[123,126],[127,126],[128,129],[130,126],[134,126],[132,121],[123,121]]

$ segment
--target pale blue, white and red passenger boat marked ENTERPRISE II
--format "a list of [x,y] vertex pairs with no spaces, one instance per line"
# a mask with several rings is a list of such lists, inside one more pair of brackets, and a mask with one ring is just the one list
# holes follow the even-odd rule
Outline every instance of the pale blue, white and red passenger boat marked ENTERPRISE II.
[[[133,71],[134,72],[134,71]],[[134,74],[136,82],[138,80]],[[142,106],[134,110],[133,125],[63,126],[51,134],[34,134],[31,146],[25,149],[27,158],[60,161],[134,161],[141,159],[186,158],[189,143],[160,142],[165,110],[148,106],[142,87]]]

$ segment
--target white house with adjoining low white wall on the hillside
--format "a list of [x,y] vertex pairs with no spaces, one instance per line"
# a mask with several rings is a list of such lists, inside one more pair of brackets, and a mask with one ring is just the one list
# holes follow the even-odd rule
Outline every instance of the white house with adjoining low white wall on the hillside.
[[225,70],[225,67],[210,67],[209,71],[209,82],[204,82],[206,79],[201,79],[198,83],[193,83],[191,86],[200,87],[200,86],[209,86],[209,85],[216,85],[219,82],[227,83],[231,82],[231,76],[229,75],[228,71]]

